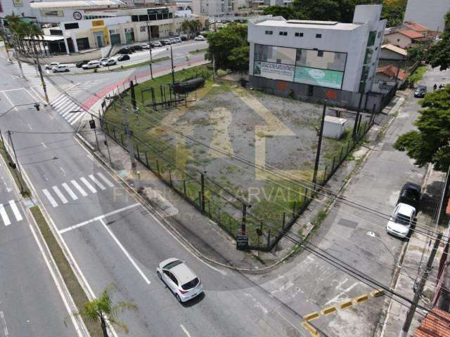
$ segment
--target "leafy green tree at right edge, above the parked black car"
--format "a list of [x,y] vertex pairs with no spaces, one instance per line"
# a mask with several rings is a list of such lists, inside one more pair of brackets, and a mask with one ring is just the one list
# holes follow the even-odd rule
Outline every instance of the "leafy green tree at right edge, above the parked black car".
[[418,166],[431,163],[446,171],[450,165],[450,86],[428,93],[419,104],[425,109],[414,123],[418,130],[399,136],[394,147],[406,151]]

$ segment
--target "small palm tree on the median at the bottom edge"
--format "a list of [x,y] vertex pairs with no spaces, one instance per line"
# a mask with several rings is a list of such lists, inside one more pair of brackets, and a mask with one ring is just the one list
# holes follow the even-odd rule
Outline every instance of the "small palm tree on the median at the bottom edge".
[[128,327],[120,322],[117,319],[117,316],[124,310],[137,310],[137,306],[134,303],[119,302],[113,305],[113,301],[111,300],[113,289],[114,286],[110,284],[102,291],[100,297],[84,303],[83,308],[73,314],[74,316],[81,316],[89,322],[100,322],[103,337],[108,337],[108,323],[122,329],[125,333],[128,333]]

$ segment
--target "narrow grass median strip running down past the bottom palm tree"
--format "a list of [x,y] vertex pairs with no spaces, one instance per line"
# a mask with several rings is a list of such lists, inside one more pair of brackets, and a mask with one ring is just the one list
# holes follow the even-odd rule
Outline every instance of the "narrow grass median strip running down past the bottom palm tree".
[[[41,234],[44,237],[47,246],[49,246],[50,253],[53,256],[56,265],[58,266],[58,270],[63,276],[65,285],[68,287],[75,305],[77,305],[78,310],[80,310],[81,308],[83,308],[84,303],[89,301],[89,298],[87,298],[86,293],[84,293],[84,290],[82,289],[82,286],[78,283],[78,279],[75,276],[72,267],[70,267],[68,260],[65,258],[63,250],[56,241],[56,238],[53,236],[53,232],[51,232],[49,224],[46,222],[44,216],[42,215],[39,206],[31,207],[30,211],[34,217],[34,220],[36,220],[37,226],[39,227],[39,230],[41,231]],[[88,329],[92,337],[103,336],[101,326],[99,324],[95,324],[93,322],[84,322],[84,324],[86,324],[86,328]]]

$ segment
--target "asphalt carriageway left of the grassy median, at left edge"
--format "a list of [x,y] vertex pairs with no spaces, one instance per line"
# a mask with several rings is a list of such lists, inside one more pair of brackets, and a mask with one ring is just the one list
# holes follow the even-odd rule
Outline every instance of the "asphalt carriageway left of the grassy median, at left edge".
[[77,336],[26,214],[0,159],[1,336]]

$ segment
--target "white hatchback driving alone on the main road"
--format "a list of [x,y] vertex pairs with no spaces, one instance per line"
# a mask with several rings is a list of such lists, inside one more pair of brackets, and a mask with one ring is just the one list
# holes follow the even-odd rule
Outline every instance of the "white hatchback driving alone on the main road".
[[186,302],[203,292],[202,282],[193,271],[178,258],[162,261],[156,269],[158,277],[169,287],[179,302]]

